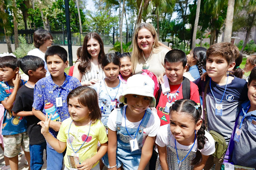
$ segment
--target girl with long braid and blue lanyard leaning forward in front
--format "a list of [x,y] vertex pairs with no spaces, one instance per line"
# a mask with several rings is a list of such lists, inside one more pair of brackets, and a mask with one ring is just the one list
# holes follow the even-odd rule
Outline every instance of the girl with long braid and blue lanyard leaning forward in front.
[[172,103],[170,124],[159,128],[156,135],[159,158],[156,170],[202,170],[215,142],[205,130],[202,108],[192,100]]

